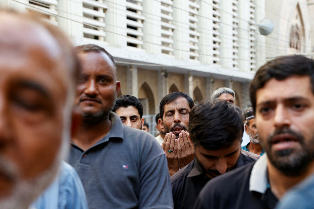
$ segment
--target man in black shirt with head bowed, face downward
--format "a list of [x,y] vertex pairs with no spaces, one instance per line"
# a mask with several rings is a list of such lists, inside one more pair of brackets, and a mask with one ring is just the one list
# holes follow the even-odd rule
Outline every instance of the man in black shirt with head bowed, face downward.
[[227,101],[203,99],[190,112],[189,131],[195,159],[171,176],[174,208],[193,208],[212,178],[255,161],[241,153],[241,110]]

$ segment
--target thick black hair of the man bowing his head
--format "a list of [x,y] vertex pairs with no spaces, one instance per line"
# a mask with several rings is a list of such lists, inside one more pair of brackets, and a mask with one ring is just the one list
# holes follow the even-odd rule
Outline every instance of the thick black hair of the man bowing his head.
[[203,99],[190,112],[188,130],[194,146],[218,150],[242,141],[244,125],[239,108],[227,101]]

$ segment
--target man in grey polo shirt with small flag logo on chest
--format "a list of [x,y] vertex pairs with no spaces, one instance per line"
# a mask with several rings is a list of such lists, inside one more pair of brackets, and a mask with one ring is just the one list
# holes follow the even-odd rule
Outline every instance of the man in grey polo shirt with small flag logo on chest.
[[77,50],[82,74],[75,105],[82,122],[72,138],[69,163],[78,171],[89,208],[173,208],[160,145],[111,112],[120,90],[113,57],[96,45]]

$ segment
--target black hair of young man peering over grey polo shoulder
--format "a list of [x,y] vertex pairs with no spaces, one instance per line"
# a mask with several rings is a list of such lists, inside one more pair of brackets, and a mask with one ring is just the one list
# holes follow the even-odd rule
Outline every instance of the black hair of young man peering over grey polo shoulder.
[[120,107],[128,107],[128,106],[133,106],[138,110],[138,114],[140,118],[142,119],[143,117],[143,106],[141,102],[136,98],[135,96],[131,96],[128,94],[121,95],[116,99],[115,106],[113,107],[112,111],[116,112],[117,109]]

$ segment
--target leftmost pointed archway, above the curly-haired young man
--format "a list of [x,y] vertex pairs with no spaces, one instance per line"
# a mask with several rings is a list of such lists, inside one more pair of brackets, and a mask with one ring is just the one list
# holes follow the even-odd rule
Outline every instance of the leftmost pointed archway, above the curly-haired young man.
[[146,82],[144,82],[141,88],[139,88],[138,90],[138,99],[141,101],[143,105],[144,115],[155,114],[154,94]]

